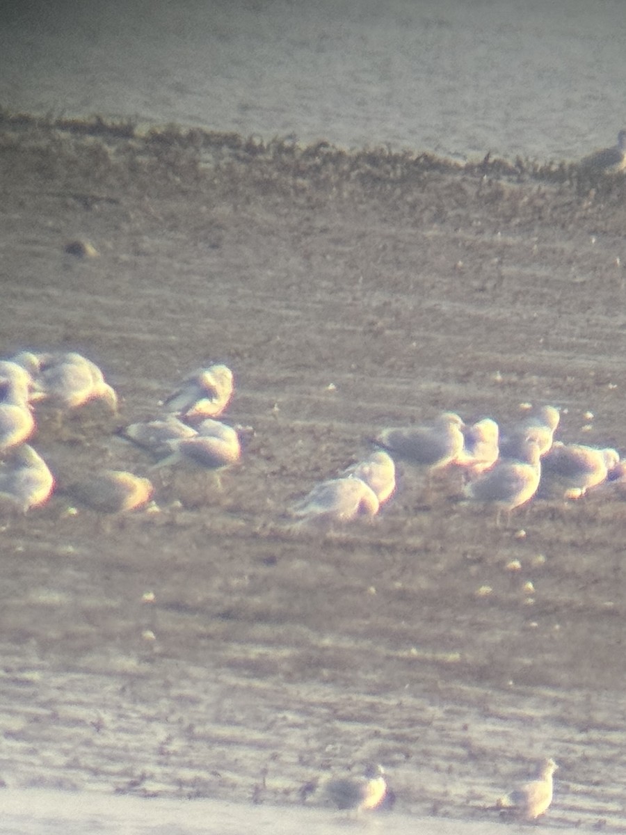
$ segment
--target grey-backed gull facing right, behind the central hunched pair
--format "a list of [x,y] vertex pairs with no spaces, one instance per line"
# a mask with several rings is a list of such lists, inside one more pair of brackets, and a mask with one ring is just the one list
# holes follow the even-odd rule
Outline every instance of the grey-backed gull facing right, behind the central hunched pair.
[[462,456],[462,427],[462,419],[457,414],[443,412],[426,426],[383,429],[375,443],[396,461],[422,464],[433,472]]

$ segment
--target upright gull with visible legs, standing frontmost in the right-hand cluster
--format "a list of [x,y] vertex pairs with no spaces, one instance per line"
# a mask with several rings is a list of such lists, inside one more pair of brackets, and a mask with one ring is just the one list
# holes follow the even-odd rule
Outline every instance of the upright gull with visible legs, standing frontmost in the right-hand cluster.
[[515,456],[498,458],[492,468],[467,483],[463,491],[466,498],[495,505],[497,524],[502,511],[510,515],[533,498],[539,487],[541,460],[535,439],[520,440]]

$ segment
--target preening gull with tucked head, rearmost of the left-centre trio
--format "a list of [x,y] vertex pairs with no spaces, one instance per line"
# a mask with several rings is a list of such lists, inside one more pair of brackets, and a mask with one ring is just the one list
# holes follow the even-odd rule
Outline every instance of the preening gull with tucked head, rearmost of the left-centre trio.
[[233,396],[233,372],[225,365],[199,368],[164,401],[164,407],[186,421],[220,417]]

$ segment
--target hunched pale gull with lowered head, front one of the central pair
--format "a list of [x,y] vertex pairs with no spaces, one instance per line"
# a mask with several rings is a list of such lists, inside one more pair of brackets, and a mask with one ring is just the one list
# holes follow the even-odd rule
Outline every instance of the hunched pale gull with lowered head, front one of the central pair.
[[351,522],[359,516],[375,516],[380,502],[361,478],[322,481],[290,509],[292,516],[311,522]]

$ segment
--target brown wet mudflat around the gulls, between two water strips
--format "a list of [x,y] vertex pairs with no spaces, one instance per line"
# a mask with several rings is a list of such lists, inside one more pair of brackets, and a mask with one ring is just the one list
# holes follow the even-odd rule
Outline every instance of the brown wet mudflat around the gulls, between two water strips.
[[[622,497],[498,528],[407,468],[369,524],[284,518],[381,428],[442,409],[553,403],[559,437],[625,449],[623,180],[6,115],[0,142],[0,354],[83,352],[122,398],[42,414],[61,489],[3,519],[8,796],[210,798],[247,820],[307,795],[332,828],[305,787],[374,760],[398,797],[376,825],[487,831],[552,756],[547,829],[623,831]],[[65,253],[76,238],[99,256]],[[74,512],[63,484],[92,468],[149,475],[114,430],[209,361],[254,428],[222,488],[164,471],[158,513]]]

